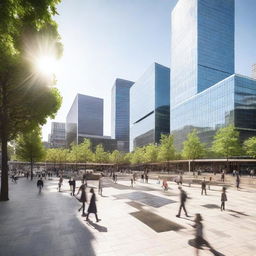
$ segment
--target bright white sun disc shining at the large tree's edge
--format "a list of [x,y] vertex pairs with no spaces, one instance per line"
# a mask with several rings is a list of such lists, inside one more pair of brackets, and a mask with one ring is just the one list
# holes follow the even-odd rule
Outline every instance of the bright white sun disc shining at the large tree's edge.
[[52,56],[40,56],[37,59],[37,69],[44,75],[52,75],[57,71],[58,62]]

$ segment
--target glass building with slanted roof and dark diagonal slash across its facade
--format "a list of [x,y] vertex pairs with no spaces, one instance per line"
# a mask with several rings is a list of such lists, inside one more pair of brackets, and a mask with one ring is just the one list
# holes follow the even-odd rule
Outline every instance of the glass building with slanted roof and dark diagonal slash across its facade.
[[170,69],[153,63],[130,89],[130,151],[170,132]]

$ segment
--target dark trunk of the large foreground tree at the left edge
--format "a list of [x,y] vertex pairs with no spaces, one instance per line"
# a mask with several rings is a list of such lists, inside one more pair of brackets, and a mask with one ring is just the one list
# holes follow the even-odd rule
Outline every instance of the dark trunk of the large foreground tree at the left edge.
[[7,138],[6,138],[6,134],[5,134],[4,130],[5,129],[3,129],[3,132],[1,134],[1,142],[2,142],[2,177],[1,177],[0,201],[8,201],[9,200]]

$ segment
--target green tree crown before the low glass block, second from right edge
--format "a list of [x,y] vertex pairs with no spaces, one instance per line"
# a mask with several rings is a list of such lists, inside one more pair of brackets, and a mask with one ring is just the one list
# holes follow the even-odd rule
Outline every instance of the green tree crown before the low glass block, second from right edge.
[[241,145],[239,142],[239,132],[233,125],[219,129],[213,140],[212,150],[226,158],[241,154]]

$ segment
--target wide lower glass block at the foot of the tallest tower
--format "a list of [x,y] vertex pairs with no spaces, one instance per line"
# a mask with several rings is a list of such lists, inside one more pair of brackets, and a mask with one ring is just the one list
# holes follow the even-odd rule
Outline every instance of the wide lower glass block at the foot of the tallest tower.
[[193,129],[210,146],[216,130],[229,124],[239,130],[242,140],[256,135],[256,80],[232,75],[171,112],[171,131],[178,149]]

